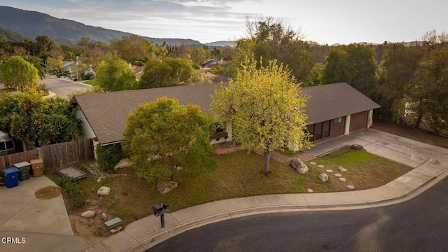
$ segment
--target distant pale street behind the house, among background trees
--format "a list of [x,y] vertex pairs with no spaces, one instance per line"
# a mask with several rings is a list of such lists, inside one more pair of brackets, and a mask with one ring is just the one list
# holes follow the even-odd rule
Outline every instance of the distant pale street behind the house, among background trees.
[[89,85],[76,83],[68,78],[57,78],[49,75],[45,76],[41,83],[45,83],[48,90],[56,94],[55,97],[61,98],[66,98],[73,91],[90,88]]

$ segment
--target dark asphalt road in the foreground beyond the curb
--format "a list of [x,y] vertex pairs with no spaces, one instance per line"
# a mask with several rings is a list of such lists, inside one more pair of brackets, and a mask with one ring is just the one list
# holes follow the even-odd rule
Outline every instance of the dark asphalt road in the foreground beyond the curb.
[[147,251],[448,251],[448,178],[388,207],[248,216]]

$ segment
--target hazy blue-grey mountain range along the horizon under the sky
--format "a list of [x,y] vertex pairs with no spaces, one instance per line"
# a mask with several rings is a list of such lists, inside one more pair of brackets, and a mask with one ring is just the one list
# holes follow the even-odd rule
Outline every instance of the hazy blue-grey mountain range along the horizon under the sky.
[[[6,38],[13,41],[21,41],[24,38],[36,38],[38,35],[48,36],[53,41],[71,45],[77,43],[80,38],[90,38],[92,41],[104,41],[109,43],[112,39],[122,38],[132,35],[129,32],[105,29],[84,25],[73,20],[55,18],[45,13],[39,13],[31,10],[21,10],[18,8],[0,6],[0,35],[4,34]],[[200,43],[193,39],[183,38],[151,38],[146,40],[155,44],[162,45],[188,45],[200,47],[209,46],[235,46],[234,41],[217,41],[212,43]]]

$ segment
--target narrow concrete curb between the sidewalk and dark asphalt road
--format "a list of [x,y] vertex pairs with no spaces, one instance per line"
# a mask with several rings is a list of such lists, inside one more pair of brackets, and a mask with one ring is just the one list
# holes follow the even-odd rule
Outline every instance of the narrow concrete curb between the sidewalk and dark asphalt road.
[[[219,221],[226,221],[232,218],[240,218],[244,216],[255,216],[258,214],[275,214],[279,212],[297,212],[297,211],[343,211],[343,210],[353,210],[353,209],[366,209],[373,207],[385,207],[392,204],[398,204],[411,200],[412,198],[420,195],[421,193],[428,190],[435,183],[441,181],[448,176],[448,168],[443,169],[441,172],[428,179],[425,183],[422,183],[417,188],[410,190],[407,193],[402,193],[396,197],[377,200],[374,202],[358,202],[358,203],[346,203],[346,204],[321,204],[321,205],[283,205],[283,206],[265,206],[265,207],[251,207],[246,209],[237,209],[233,211],[226,211],[221,214],[214,214],[211,216],[206,216],[204,218],[197,219],[195,221],[190,221],[188,223],[183,223],[174,228],[164,230],[156,235],[137,241],[137,244],[132,246],[129,251],[141,252],[148,248],[151,248],[157,244],[160,244],[167,239],[179,235],[188,230],[194,228],[200,228],[203,225],[208,225],[211,223],[216,223]],[[126,230],[124,230],[126,232]],[[129,234],[128,234],[129,235]]]

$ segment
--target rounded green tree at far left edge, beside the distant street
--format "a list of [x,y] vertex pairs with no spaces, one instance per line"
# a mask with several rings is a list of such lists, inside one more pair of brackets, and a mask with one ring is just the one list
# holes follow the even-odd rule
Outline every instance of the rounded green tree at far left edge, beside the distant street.
[[22,57],[10,57],[0,65],[0,71],[5,87],[28,90],[39,85],[38,70]]

